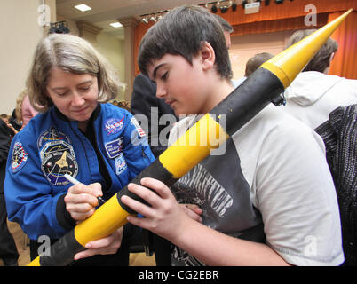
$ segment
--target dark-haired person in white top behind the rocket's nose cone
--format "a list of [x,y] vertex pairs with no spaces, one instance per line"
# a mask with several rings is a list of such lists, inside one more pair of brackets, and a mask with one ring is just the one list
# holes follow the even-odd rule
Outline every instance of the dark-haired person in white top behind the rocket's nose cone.
[[[290,37],[287,48],[314,31],[296,31]],[[329,120],[329,114],[338,106],[350,106],[357,102],[357,80],[329,75],[337,49],[338,43],[329,38],[284,92],[286,106],[282,106],[282,110],[312,129]]]

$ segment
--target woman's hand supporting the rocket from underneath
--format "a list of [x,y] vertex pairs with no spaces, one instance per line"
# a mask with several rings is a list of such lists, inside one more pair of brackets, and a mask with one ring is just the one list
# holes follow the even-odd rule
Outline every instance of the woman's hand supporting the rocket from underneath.
[[75,260],[94,256],[94,255],[112,255],[115,254],[122,244],[123,226],[114,233],[97,241],[88,242],[83,250],[75,255]]

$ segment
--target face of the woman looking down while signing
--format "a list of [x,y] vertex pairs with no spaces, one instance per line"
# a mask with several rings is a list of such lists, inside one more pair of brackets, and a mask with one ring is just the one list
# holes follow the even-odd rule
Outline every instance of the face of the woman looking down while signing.
[[62,114],[82,125],[86,125],[98,105],[98,81],[91,74],[77,75],[52,68],[46,91]]

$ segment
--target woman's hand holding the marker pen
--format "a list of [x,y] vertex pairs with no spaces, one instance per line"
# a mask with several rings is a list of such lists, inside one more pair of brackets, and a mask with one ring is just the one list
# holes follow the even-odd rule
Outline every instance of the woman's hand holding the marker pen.
[[99,205],[97,196],[102,194],[99,183],[73,185],[69,187],[64,199],[66,209],[75,221],[83,221],[94,213],[95,207]]

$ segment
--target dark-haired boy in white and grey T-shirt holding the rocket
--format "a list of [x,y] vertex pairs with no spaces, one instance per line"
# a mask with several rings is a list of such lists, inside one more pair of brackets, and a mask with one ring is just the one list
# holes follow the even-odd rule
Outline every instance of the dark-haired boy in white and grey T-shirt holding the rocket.
[[[207,114],[234,90],[223,31],[197,6],[178,7],[147,31],[139,67],[176,115]],[[171,138],[195,118],[178,122]],[[128,221],[171,241],[173,265],[338,265],[344,260],[321,138],[274,106],[228,139],[225,154],[210,155],[172,186],[179,201],[202,208],[202,222],[199,214],[186,215],[162,182],[143,178],[141,185],[128,189],[150,206],[125,195],[122,201],[146,218]]]

